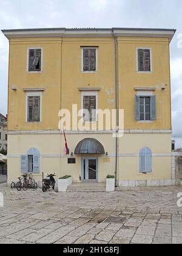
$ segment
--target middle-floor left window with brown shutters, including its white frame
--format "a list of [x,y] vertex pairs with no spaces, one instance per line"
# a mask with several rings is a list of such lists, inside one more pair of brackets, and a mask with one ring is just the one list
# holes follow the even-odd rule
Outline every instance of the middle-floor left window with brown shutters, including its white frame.
[[42,93],[26,94],[26,113],[27,123],[42,122]]

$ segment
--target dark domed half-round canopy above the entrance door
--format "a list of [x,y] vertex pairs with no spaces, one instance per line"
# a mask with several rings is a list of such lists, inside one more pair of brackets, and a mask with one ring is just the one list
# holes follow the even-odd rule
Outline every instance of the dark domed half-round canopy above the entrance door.
[[103,155],[103,145],[94,138],[85,138],[75,148],[75,155]]

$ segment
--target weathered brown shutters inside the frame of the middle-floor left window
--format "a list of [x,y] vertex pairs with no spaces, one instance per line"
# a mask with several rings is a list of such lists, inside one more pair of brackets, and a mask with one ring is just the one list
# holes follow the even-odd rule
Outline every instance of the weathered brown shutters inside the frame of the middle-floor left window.
[[27,122],[41,121],[41,94],[27,95]]

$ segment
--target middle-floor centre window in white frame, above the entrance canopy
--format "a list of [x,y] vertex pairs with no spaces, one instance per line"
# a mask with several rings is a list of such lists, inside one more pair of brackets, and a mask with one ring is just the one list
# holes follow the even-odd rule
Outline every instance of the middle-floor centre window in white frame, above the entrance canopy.
[[81,93],[83,122],[96,122],[98,110],[98,93],[96,91]]

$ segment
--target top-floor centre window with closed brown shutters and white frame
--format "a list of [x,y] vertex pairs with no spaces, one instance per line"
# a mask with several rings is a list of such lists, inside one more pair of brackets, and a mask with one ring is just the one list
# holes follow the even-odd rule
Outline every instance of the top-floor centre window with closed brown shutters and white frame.
[[81,48],[81,71],[83,73],[98,72],[98,47]]

